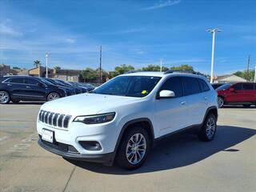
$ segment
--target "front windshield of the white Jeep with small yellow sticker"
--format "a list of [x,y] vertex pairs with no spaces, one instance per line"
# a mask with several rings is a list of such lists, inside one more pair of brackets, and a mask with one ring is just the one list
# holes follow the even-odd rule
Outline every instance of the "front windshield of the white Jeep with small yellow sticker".
[[98,87],[92,93],[142,98],[150,94],[159,80],[160,77],[119,76]]

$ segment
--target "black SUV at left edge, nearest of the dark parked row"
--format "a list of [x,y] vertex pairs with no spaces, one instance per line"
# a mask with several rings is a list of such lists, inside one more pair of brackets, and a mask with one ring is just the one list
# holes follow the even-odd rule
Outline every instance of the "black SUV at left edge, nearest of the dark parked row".
[[0,79],[0,103],[10,101],[52,101],[70,95],[65,87],[29,76],[6,76]]

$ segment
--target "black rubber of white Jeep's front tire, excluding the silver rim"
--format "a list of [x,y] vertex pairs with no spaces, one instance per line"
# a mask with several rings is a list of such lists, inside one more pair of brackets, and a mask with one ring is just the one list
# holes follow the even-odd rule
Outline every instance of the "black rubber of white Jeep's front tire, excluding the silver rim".
[[[142,134],[144,138],[146,138],[146,153],[142,158],[142,161],[138,162],[138,164],[136,165],[130,164],[130,162],[126,158],[127,142],[130,140],[130,138],[134,134]],[[118,146],[118,152],[115,157],[115,162],[117,162],[118,166],[121,166],[122,168],[125,168],[128,170],[137,169],[138,167],[142,166],[142,164],[146,161],[146,158],[150,152],[150,148],[151,148],[151,140],[150,140],[150,135],[147,133],[147,131],[140,126],[130,127],[129,130],[127,130],[123,134],[120,145]]]

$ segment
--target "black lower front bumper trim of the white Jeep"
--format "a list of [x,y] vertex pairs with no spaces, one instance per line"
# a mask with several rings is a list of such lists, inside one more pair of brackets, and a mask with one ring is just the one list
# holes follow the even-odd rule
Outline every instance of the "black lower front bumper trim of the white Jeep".
[[[64,158],[85,162],[100,162],[111,166],[114,162],[114,152],[109,154],[80,154],[78,151],[70,151],[68,145],[60,142],[46,142],[39,136],[38,145],[54,154],[61,155]],[[71,146],[72,147],[72,146]]]

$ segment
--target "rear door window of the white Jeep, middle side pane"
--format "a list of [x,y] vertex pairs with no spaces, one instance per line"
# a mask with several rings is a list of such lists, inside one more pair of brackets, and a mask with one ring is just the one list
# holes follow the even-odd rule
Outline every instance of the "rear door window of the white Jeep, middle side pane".
[[201,93],[201,89],[200,89],[197,78],[183,77],[182,78],[182,84],[183,84],[183,87],[184,87],[184,94],[185,95]]

